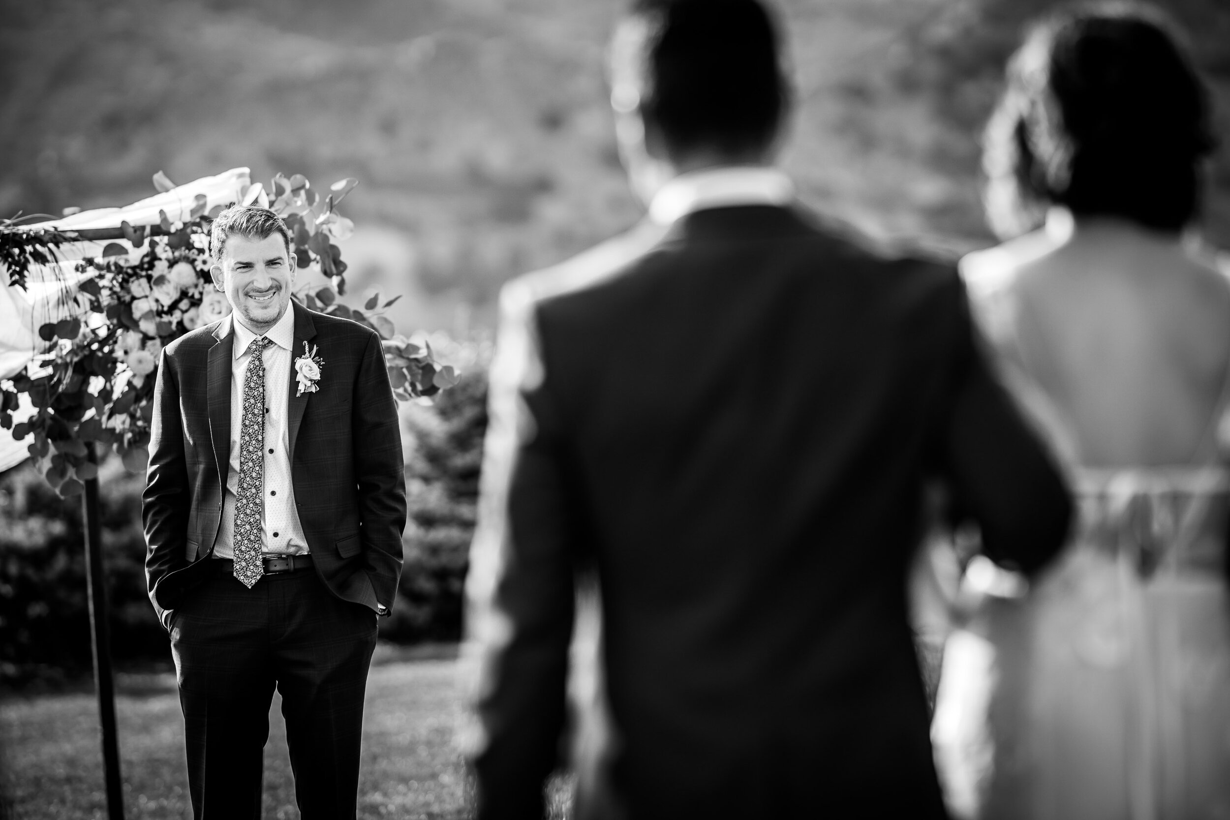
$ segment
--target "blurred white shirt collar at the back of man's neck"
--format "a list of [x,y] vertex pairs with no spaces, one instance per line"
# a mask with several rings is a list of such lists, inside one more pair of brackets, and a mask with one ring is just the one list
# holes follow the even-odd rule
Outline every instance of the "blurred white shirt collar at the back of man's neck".
[[733,166],[690,171],[662,186],[649,203],[649,219],[669,225],[706,208],[732,205],[786,205],[795,199],[795,186],[772,167]]

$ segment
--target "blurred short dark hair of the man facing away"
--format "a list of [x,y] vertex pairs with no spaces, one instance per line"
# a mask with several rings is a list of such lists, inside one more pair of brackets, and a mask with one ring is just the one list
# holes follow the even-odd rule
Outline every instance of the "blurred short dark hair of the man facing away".
[[777,32],[758,0],[637,0],[648,22],[641,113],[667,148],[768,148],[790,92]]

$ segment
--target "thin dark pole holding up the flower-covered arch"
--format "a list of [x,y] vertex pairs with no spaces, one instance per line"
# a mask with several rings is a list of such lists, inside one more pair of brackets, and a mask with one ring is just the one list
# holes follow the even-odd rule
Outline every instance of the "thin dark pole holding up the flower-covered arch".
[[[98,459],[92,443],[85,445],[91,463]],[[98,520],[98,479],[85,482],[85,570],[90,596],[90,645],[93,649],[93,686],[98,692],[98,722],[102,725],[102,766],[107,783],[107,816],[124,818],[123,781],[119,778],[119,744],[116,734],[116,687],[111,671],[111,625],[107,617],[107,585],[102,570],[102,527]]]

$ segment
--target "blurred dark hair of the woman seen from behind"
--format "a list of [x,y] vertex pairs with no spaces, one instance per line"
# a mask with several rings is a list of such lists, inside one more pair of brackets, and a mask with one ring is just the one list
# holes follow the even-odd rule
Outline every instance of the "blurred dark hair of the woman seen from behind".
[[983,140],[984,202],[1001,237],[1052,204],[1182,230],[1215,146],[1209,95],[1153,6],[1102,2],[1034,25]]

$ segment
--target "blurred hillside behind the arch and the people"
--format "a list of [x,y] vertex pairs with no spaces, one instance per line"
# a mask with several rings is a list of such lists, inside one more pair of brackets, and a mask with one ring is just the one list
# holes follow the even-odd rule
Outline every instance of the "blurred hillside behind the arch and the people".
[[[1042,0],[782,0],[803,198],[873,235],[988,245],[978,134]],[[1230,2],[1168,0],[1230,112]],[[353,176],[352,291],[490,327],[506,279],[635,223],[604,52],[621,0],[0,0],[0,215],[250,166]],[[1230,133],[1225,127],[1220,133]],[[1230,160],[1207,227],[1230,246]]]

